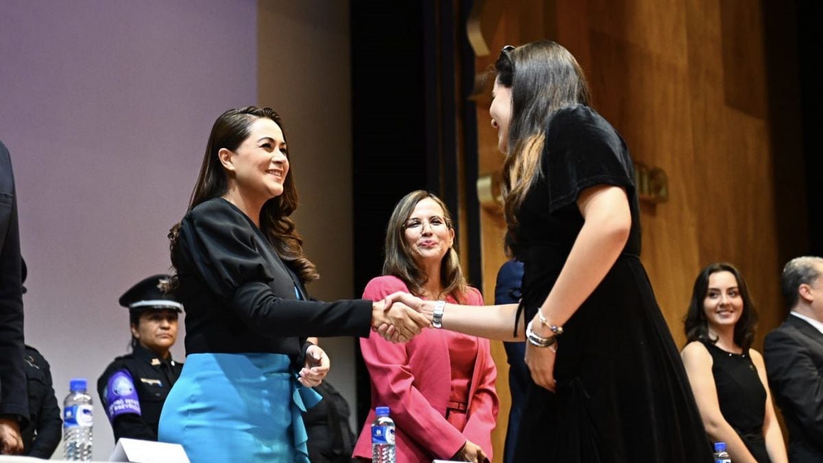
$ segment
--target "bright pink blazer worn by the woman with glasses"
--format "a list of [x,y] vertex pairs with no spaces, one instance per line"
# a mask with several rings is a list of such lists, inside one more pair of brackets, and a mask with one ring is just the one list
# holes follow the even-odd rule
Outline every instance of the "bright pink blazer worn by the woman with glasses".
[[[397,291],[408,292],[402,280],[379,276],[366,285],[364,299],[379,300]],[[470,288],[466,303],[482,305],[480,291]],[[449,299],[449,302],[454,302]],[[392,344],[376,333],[360,339],[371,376],[371,411],[357,439],[355,457],[371,459],[374,407],[386,405],[397,425],[398,463],[448,460],[467,440],[492,458],[491,431],[497,421],[497,368],[489,340],[477,339],[477,360],[469,389],[467,423],[463,433],[446,421],[451,392],[449,346],[443,331],[425,329],[406,344]]]

